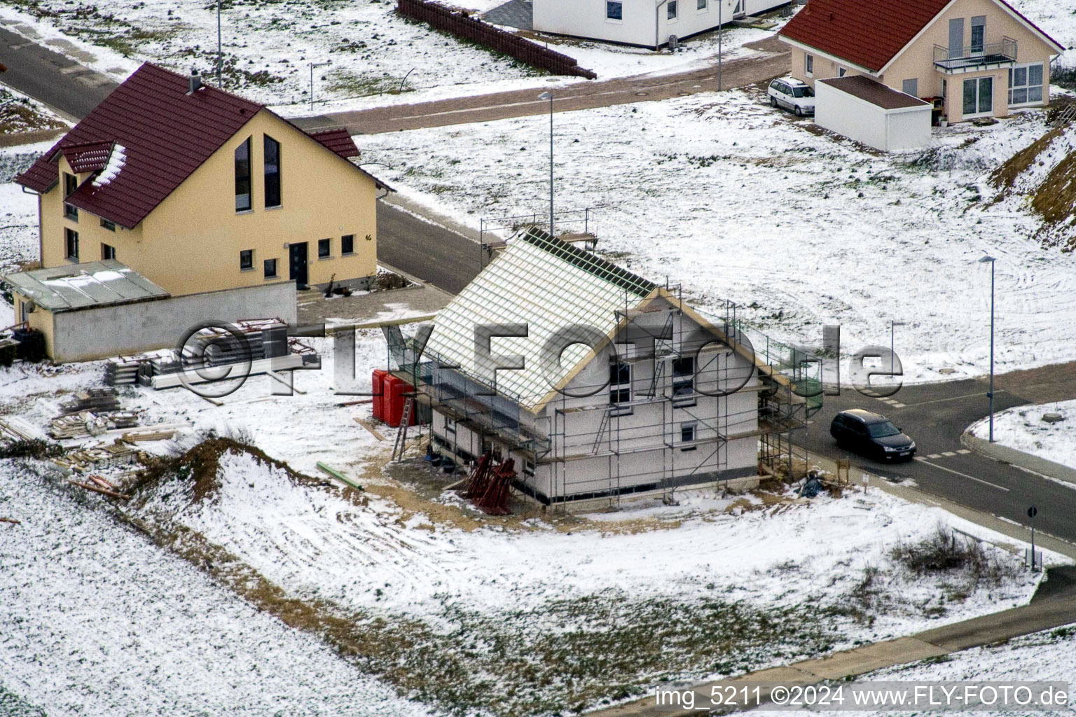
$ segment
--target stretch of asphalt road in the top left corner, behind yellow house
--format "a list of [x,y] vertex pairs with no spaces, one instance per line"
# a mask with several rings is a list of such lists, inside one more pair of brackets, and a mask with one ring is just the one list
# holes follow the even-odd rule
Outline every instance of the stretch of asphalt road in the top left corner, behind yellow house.
[[0,27],[0,82],[76,119],[89,114],[116,83],[59,53]]

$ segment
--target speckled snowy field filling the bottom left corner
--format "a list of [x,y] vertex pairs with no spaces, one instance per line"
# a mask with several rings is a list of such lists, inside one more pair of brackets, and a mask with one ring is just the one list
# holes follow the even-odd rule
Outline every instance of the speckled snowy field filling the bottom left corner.
[[0,692],[52,717],[427,714],[96,502],[0,463]]

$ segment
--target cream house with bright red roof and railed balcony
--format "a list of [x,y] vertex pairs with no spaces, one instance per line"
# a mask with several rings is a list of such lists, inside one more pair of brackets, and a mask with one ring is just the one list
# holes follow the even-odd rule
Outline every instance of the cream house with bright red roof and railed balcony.
[[1050,99],[1064,47],[1004,0],[809,0],[780,31],[792,76],[867,75],[935,102],[950,123]]

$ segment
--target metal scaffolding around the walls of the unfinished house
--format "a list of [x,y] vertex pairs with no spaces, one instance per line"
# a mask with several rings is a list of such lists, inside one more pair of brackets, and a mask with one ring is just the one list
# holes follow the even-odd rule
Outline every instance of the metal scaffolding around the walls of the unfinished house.
[[[624,398],[621,395],[613,400],[612,393],[601,386],[596,387],[601,392],[595,392],[582,404],[566,392],[558,392],[533,413],[525,406],[534,397],[498,388],[496,382],[471,375],[431,352],[420,359],[412,340],[402,339],[399,333],[392,340],[386,331],[390,358],[395,363],[390,370],[416,387],[414,398],[425,407],[426,415],[436,410],[454,421],[454,426],[465,426],[477,435],[479,450],[476,455],[463,449],[456,442],[455,429],[451,442],[442,439],[438,445],[465,462],[477,460],[486,449],[502,446],[521,454],[532,474],[537,467],[547,467],[548,492],[540,491],[539,496],[537,489],[528,486],[526,471],[521,471],[523,475],[515,487],[552,505],[605,499],[609,505],[619,506],[622,498],[638,492],[659,492],[666,502],[675,502],[680,486],[708,482],[699,479],[702,476],[722,479],[728,467],[730,442],[746,439],[758,441],[760,469],[770,474],[787,471],[792,476],[793,432],[805,428],[810,416],[822,407],[821,361],[769,339],[738,319],[734,304],[728,304],[724,317],[685,306],[679,286],[666,283],[664,289],[642,301],[626,289],[623,296],[623,305],[614,310],[615,340],[646,338],[643,343],[650,347],[633,354],[610,354],[610,370],[614,365],[619,369],[620,364],[628,367],[627,400],[621,400]],[[756,392],[758,401],[751,402],[749,411],[731,411],[731,395],[700,401],[711,395],[697,392],[693,384],[689,388],[686,382],[678,384],[677,363],[686,358],[694,360],[698,355],[694,345],[685,344],[684,330],[689,326],[685,316],[693,321],[691,326],[702,326],[725,347],[708,362],[716,365],[706,367],[718,386],[733,385],[734,367],[744,370],[744,362],[737,363],[736,356],[748,359],[751,376],[758,382],[749,379],[734,392]],[[649,375],[639,375],[634,369],[648,363],[653,367]],[[697,374],[699,367],[692,369]],[[747,385],[753,383],[756,385]],[[652,422],[625,420],[639,410],[652,414]],[[736,424],[750,417],[748,414],[758,416],[755,428],[732,433]],[[596,427],[579,430],[589,420]],[[569,422],[574,426],[569,427]],[[683,428],[685,424],[692,425],[690,435]],[[436,442],[433,428],[429,430],[430,440]],[[649,433],[649,439],[640,439],[642,433]],[[473,449],[473,444],[469,448]],[[693,456],[702,451],[706,455],[691,460],[689,470],[678,467],[678,457],[685,450],[693,451]],[[634,470],[645,456],[659,455],[660,471],[646,467]],[[574,464],[597,459],[607,461],[604,477],[572,479]],[[654,479],[640,479],[650,475]]]

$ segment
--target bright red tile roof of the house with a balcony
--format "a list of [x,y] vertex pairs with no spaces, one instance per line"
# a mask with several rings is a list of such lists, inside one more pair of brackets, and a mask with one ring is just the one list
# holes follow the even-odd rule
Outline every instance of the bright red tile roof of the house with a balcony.
[[[950,0],[809,0],[778,33],[877,72],[926,27]],[[997,2],[1064,51],[1004,0]]]

